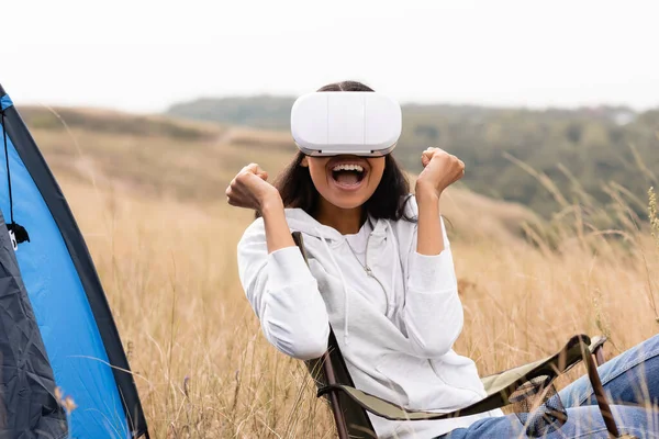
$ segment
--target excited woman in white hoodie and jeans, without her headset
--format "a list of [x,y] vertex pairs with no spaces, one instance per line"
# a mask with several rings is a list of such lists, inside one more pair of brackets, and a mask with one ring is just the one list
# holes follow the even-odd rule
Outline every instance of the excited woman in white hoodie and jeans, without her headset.
[[[319,91],[372,90],[348,81]],[[241,239],[238,267],[247,299],[275,347],[297,359],[319,358],[327,348],[331,323],[358,389],[411,409],[455,410],[484,396],[473,361],[451,349],[463,315],[440,205],[444,191],[463,176],[465,164],[438,148],[426,149],[422,164],[414,195],[391,155],[302,154],[276,185],[258,165],[245,167],[226,195],[230,204],[259,216]],[[309,266],[291,230],[303,234]],[[601,368],[616,403],[636,402],[629,390],[639,380],[637,365],[657,368],[652,359],[658,353],[659,342],[650,339]],[[659,371],[648,375],[655,379]],[[659,384],[647,381],[655,399]],[[561,396],[572,408],[557,437],[606,437],[583,379]],[[657,430],[641,408],[614,409],[627,432]],[[516,416],[501,410],[433,421],[371,420],[383,438],[513,437],[523,431]]]

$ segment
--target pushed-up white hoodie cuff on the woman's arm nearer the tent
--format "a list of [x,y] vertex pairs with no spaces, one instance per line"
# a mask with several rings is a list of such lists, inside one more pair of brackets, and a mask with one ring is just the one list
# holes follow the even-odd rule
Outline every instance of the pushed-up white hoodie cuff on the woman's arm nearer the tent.
[[268,284],[272,291],[314,281],[298,247],[284,247],[268,255]]

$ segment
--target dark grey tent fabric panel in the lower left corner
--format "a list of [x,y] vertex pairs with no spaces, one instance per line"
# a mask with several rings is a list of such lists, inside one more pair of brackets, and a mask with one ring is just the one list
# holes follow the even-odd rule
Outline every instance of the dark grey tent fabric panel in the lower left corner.
[[[7,230],[2,213],[0,230]],[[55,395],[53,369],[9,234],[2,232],[0,354],[0,438],[66,438],[67,418]]]

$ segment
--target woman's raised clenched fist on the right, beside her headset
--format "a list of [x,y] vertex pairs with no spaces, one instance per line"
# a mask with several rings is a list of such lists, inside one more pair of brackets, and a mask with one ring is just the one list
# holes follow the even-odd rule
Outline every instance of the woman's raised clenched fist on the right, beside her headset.
[[465,162],[439,148],[427,148],[421,156],[423,171],[416,179],[416,192],[442,192],[465,176]]

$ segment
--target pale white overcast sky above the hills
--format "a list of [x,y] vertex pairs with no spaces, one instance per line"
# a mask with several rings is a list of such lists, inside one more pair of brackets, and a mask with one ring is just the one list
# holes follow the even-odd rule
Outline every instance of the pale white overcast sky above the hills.
[[402,102],[659,106],[659,1],[0,0],[15,102],[157,112],[362,80]]

